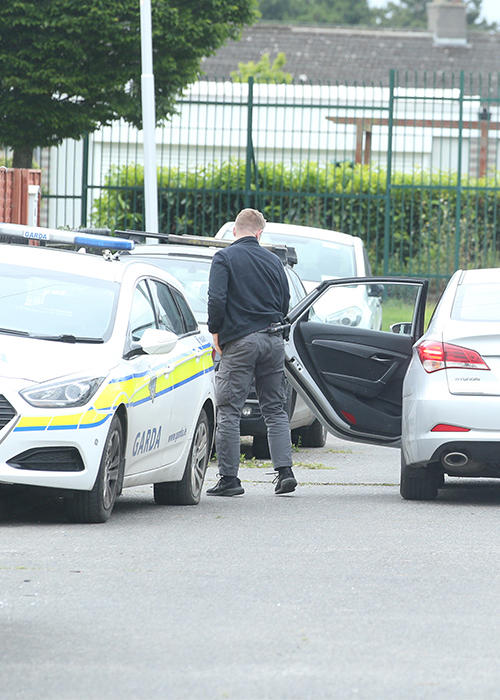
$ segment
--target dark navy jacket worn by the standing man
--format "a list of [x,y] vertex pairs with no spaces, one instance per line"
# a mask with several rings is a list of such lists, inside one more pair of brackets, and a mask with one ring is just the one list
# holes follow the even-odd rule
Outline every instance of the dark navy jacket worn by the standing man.
[[282,321],[290,292],[283,263],[254,236],[218,250],[210,268],[208,330],[219,344]]

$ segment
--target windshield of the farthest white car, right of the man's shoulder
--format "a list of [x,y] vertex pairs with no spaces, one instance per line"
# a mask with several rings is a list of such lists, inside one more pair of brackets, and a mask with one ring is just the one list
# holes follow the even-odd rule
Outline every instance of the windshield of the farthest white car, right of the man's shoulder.
[[264,231],[260,242],[293,246],[298,261],[293,269],[308,282],[322,282],[332,277],[356,277],[353,246],[288,233],[283,236],[272,231]]

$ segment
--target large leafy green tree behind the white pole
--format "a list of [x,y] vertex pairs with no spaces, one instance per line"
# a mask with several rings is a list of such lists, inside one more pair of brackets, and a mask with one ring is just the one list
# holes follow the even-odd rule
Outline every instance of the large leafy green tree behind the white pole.
[[[158,121],[204,56],[258,17],[257,0],[152,0]],[[0,3],[0,144],[14,167],[33,148],[123,118],[141,126],[139,0]]]

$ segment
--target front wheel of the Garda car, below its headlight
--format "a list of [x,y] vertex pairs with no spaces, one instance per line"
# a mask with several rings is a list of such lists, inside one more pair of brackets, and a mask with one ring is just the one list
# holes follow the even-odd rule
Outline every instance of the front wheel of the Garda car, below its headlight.
[[76,523],[104,523],[111,515],[123,482],[123,427],[114,416],[102,451],[92,491],[74,491],[66,501],[69,519]]

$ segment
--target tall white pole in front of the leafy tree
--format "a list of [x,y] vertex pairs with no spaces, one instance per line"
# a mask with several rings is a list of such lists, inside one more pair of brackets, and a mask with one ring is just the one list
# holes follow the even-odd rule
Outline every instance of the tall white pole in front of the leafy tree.
[[151,0],[140,0],[140,3],[142,128],[144,138],[144,209],[146,214],[146,231],[158,233],[158,183],[156,179],[155,143],[155,78],[153,75]]

